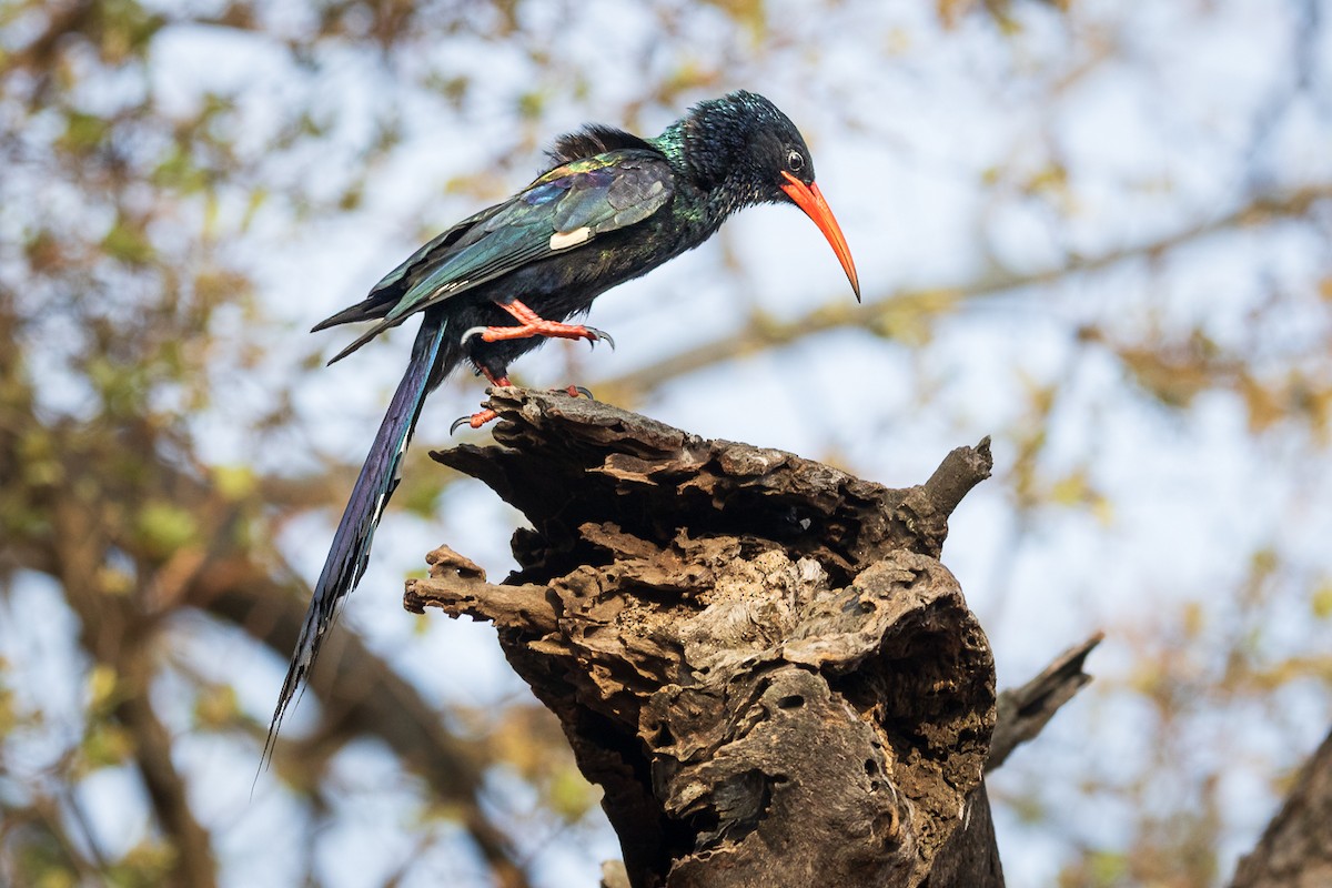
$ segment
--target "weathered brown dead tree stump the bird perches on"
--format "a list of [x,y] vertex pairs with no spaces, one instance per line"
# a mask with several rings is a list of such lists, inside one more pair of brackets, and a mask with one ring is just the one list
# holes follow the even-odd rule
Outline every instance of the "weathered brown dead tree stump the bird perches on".
[[498,627],[630,885],[1003,884],[994,663],[938,560],[988,441],[890,490],[567,395],[490,406],[497,446],[432,455],[527,517],[521,568],[490,584],[441,549],[406,606]]

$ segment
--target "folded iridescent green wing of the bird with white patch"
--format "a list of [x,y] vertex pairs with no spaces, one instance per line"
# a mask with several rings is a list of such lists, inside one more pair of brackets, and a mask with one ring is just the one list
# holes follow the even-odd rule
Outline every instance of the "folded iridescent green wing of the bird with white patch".
[[654,150],[618,149],[562,164],[422,246],[370,290],[358,314],[353,306],[325,321],[321,328],[380,318],[333,361],[416,312],[641,222],[673,194],[670,165]]

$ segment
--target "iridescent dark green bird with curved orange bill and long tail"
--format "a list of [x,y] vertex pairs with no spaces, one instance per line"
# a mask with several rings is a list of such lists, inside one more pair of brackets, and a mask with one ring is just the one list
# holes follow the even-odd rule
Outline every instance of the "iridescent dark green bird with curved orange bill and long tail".
[[[601,293],[698,246],[733,213],[759,204],[802,209],[860,300],[851,252],[814,182],[810,149],[791,120],[758,93],[701,101],[655,137],[589,124],[557,138],[547,154],[549,169],[530,185],[441,233],[362,301],[314,326],[373,321],[329,361],[334,363],[421,316],[406,373],[314,586],[261,770],[340,603],[365,572],[425,398],[445,377],[470,365],[492,385],[506,386],[509,363],[549,338],[614,345],[605,332],[569,320],[585,314]],[[464,421],[481,427],[494,415],[481,410]]]

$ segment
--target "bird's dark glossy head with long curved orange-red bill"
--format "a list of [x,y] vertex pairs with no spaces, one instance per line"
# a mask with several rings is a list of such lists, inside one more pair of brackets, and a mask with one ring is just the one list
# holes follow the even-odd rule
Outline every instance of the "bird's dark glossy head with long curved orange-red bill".
[[832,245],[859,300],[851,250],[814,184],[814,158],[795,124],[763,96],[745,91],[699,103],[683,122],[697,184],[718,193],[727,213],[754,204],[799,206]]

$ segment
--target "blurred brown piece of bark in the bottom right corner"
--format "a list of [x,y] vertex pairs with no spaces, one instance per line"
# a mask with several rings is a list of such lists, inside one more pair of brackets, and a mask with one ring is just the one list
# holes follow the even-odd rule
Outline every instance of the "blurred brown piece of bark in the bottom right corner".
[[1327,885],[1332,885],[1332,734],[1300,768],[1281,811],[1231,881],[1231,888]]

